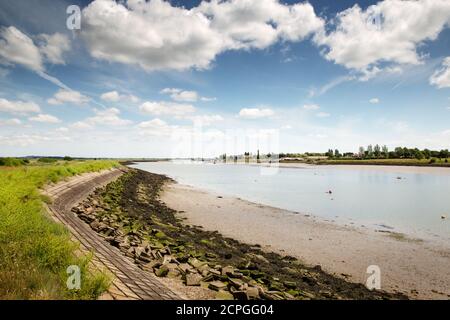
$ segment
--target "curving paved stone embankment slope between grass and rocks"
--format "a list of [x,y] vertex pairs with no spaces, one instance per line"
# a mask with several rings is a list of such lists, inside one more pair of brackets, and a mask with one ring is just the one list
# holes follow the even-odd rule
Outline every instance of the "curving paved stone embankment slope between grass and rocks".
[[94,252],[93,266],[108,270],[114,280],[102,299],[114,300],[173,300],[180,296],[166,287],[153,274],[140,269],[117,248],[109,245],[89,225],[80,220],[71,208],[86,198],[97,187],[104,186],[121,176],[119,169],[88,173],[49,186],[44,194],[52,198],[49,211],[58,222],[70,230],[80,242],[83,252]]

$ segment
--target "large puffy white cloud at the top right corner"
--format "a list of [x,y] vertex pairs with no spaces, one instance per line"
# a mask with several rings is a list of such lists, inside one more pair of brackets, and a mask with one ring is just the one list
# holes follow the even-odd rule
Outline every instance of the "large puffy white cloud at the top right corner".
[[363,73],[367,80],[380,72],[380,63],[419,64],[418,47],[435,40],[450,23],[450,1],[390,0],[362,10],[340,12],[336,26],[315,41],[325,46],[325,58]]

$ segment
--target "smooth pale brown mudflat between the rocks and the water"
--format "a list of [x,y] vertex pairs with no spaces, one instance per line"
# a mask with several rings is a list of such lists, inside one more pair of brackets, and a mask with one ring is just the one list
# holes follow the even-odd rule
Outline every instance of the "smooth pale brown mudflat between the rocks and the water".
[[319,264],[351,281],[365,283],[367,267],[378,265],[384,290],[412,298],[450,297],[449,247],[398,240],[179,184],[166,186],[161,200],[182,211],[188,224]]

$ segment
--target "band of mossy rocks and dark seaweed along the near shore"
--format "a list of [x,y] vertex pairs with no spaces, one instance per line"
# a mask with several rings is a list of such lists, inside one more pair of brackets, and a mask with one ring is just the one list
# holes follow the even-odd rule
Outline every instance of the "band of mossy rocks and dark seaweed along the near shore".
[[[184,223],[159,200],[165,176],[131,169],[74,212],[143,269],[219,299],[406,299]],[[209,293],[209,294],[208,294]],[[195,297],[191,297],[195,298]]]

